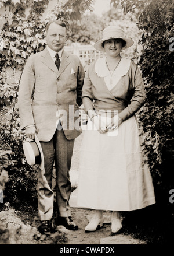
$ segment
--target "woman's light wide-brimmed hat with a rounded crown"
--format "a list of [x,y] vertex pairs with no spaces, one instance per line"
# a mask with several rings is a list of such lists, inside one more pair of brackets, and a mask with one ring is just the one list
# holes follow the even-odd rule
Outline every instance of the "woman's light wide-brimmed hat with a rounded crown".
[[102,47],[102,43],[108,39],[122,39],[126,42],[126,45],[122,47],[122,50],[125,50],[131,47],[134,41],[131,38],[124,37],[124,32],[120,27],[117,26],[108,26],[103,30],[102,40],[97,41],[93,46],[98,51],[105,51]]

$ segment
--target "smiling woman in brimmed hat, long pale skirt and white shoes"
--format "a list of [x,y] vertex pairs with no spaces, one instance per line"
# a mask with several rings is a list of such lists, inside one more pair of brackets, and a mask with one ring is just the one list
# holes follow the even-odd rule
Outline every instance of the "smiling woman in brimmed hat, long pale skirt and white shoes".
[[94,45],[106,57],[90,64],[85,76],[82,99],[89,120],[81,146],[78,205],[96,210],[88,232],[103,226],[102,210],[113,211],[115,233],[122,227],[120,211],[155,203],[135,115],[145,101],[143,80],[136,64],[121,57],[132,44],[122,29],[106,27]]

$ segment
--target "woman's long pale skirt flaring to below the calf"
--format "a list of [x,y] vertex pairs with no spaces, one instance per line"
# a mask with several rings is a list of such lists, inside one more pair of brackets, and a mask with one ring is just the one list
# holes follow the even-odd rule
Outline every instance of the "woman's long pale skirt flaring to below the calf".
[[136,116],[105,134],[88,120],[79,156],[77,205],[132,211],[152,204],[153,181],[143,161]]

